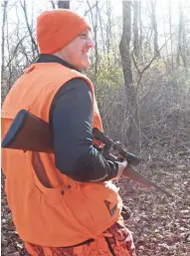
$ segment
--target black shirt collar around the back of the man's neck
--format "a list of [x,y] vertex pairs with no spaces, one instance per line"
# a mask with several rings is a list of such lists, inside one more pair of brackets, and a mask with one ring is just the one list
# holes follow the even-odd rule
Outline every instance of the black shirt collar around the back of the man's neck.
[[52,54],[40,54],[39,58],[37,60],[37,63],[47,63],[47,62],[60,63],[60,64],[64,65],[65,67],[69,68],[69,69],[79,71],[73,65],[71,65],[70,63],[64,61],[63,59],[61,59],[61,58],[59,58],[59,57],[57,57],[55,55],[52,55]]

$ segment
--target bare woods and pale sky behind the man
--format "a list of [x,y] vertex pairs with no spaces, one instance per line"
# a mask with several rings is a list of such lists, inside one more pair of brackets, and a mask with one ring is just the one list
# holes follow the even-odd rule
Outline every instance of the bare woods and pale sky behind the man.
[[[71,8],[92,25],[95,51],[93,66],[86,74],[95,85],[104,131],[146,159],[141,171],[147,175],[155,174],[156,168],[170,170],[175,174],[168,181],[171,186],[179,180],[173,169],[180,171],[180,177],[186,175],[178,184],[178,192],[186,193],[190,169],[190,2],[2,1],[2,101],[38,57],[36,17],[55,8]],[[128,187],[131,191],[134,186]],[[151,228],[149,232],[152,234]],[[140,254],[140,246],[139,255],[149,255]],[[176,248],[150,255],[189,253]]]

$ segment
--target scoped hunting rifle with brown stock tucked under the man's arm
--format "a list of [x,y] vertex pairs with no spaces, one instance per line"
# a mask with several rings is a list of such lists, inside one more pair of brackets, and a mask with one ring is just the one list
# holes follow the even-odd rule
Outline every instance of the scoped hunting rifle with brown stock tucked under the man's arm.
[[[110,150],[113,149],[127,160],[129,166],[123,170],[122,174],[124,176],[127,176],[128,178],[143,185],[153,186],[167,196],[174,197],[171,192],[158,186],[155,182],[147,179],[142,174],[130,167],[130,165],[136,166],[140,162],[141,159],[139,159],[136,155],[127,152],[120,146],[118,142],[114,142],[98,128],[93,129],[93,135],[95,139],[104,144],[102,154],[105,158],[118,160],[117,157],[110,153]],[[5,134],[1,146],[4,148],[21,149],[24,151],[31,150],[53,153],[53,132],[51,126],[47,122],[25,110],[22,110],[17,114],[13,123]]]

